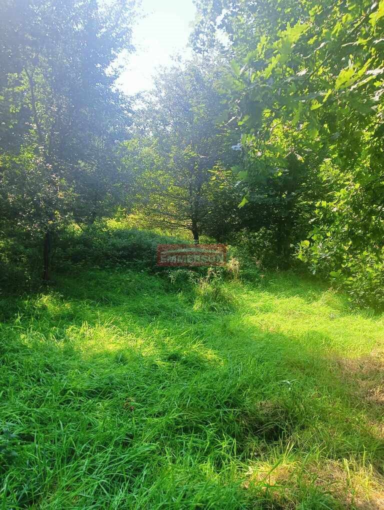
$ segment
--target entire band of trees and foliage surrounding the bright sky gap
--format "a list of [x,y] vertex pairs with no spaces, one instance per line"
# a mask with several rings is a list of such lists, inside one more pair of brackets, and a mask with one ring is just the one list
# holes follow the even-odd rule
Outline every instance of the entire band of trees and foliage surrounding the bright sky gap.
[[195,54],[133,102],[111,65],[133,49],[132,4],[4,4],[3,272],[44,239],[47,279],[63,229],[118,207],[381,307],[383,1],[196,5]]

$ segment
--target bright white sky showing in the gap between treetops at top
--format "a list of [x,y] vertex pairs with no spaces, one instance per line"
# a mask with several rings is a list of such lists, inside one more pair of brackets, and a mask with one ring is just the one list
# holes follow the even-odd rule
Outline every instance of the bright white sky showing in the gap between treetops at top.
[[158,66],[167,66],[173,55],[189,55],[186,48],[196,8],[192,0],[142,0],[145,15],[135,23],[136,52],[126,57],[116,82],[125,94],[136,94],[152,86]]

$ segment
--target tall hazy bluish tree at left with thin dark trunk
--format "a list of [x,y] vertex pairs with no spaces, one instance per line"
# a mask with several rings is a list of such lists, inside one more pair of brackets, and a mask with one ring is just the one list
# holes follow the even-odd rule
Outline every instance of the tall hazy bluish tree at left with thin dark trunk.
[[[132,50],[133,3],[6,0],[0,16],[0,209],[44,239],[106,214],[121,194],[126,106],[111,64]],[[128,21],[127,21],[128,20]]]

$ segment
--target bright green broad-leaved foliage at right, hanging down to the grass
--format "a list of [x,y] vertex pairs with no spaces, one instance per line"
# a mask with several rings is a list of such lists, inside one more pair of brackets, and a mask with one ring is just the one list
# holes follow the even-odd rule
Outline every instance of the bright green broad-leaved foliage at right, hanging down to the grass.
[[280,267],[298,256],[382,308],[384,1],[196,3],[191,42],[227,59],[249,224],[271,234]]

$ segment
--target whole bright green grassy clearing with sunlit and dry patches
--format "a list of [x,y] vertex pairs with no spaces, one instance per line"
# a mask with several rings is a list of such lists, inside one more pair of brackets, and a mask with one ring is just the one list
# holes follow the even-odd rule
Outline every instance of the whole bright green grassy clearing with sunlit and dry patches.
[[3,299],[0,508],[384,508],[383,318],[292,275],[222,285]]

